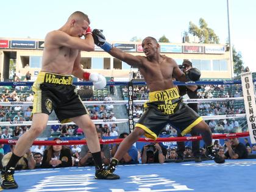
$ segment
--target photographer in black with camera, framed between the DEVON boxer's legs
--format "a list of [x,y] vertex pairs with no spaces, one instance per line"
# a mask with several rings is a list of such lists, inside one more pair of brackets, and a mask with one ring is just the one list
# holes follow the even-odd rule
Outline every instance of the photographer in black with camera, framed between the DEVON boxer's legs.
[[151,143],[143,146],[141,151],[141,163],[164,163],[167,150],[159,143]]

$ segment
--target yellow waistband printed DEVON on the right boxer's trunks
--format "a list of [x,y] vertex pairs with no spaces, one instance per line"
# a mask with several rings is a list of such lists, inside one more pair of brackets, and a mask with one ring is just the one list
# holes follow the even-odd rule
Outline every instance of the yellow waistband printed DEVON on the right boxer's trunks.
[[169,88],[168,90],[163,90],[163,91],[149,92],[149,102],[166,101],[166,100],[177,99],[179,97],[180,97],[180,94],[176,87]]

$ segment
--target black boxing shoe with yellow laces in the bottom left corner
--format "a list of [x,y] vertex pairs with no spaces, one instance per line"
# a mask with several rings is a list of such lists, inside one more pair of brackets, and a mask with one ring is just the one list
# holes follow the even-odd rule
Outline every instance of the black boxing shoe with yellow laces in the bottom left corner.
[[18,188],[18,184],[15,182],[13,178],[15,168],[6,167],[2,168],[1,171],[1,187],[3,189],[16,189]]

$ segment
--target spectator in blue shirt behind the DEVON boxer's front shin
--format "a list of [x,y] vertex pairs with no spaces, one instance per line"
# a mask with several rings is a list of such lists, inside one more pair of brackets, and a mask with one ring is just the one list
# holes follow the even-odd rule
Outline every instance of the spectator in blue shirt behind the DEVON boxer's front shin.
[[[119,138],[126,138],[129,135],[129,133],[121,133],[119,135]],[[119,144],[114,144],[111,155],[114,157]],[[124,154],[124,157],[119,160],[119,164],[137,164],[138,163],[138,150],[135,148],[135,146],[131,146],[130,149]]]

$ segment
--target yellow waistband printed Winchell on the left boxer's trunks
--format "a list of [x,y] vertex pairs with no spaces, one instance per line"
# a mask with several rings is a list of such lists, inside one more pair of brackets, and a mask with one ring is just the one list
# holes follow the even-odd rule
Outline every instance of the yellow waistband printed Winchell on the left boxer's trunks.
[[48,84],[58,84],[58,85],[72,85],[73,77],[62,75],[62,74],[40,72],[37,76],[37,82],[38,83],[44,82]]

